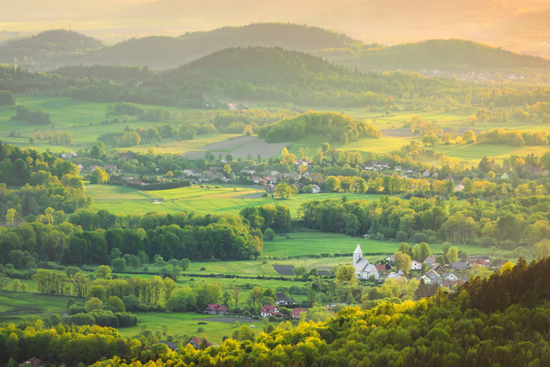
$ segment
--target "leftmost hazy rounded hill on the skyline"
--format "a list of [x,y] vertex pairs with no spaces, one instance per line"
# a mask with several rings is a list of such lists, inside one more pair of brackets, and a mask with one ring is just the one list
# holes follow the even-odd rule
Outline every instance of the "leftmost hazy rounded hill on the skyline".
[[0,47],[0,63],[18,64],[34,69],[63,64],[63,58],[82,55],[103,47],[96,38],[72,30],[47,30],[30,38],[21,38]]

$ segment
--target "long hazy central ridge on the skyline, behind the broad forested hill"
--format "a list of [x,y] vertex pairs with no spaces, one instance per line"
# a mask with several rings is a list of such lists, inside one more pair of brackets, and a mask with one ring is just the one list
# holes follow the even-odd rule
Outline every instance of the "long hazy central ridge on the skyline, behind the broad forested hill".
[[87,55],[85,64],[147,65],[167,69],[228,47],[283,47],[312,52],[326,48],[355,48],[363,43],[343,34],[317,27],[290,23],[255,23],[224,27],[207,32],[190,32],[178,38],[132,38]]

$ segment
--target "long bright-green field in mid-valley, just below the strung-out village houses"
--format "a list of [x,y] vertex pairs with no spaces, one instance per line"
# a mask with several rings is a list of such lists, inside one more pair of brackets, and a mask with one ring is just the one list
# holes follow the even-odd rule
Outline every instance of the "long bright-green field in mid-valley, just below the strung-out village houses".
[[[93,198],[93,209],[106,209],[115,214],[173,213],[178,211],[202,214],[238,214],[242,208],[258,205],[286,205],[292,218],[298,218],[300,205],[305,201],[341,199],[342,193],[310,193],[290,199],[262,197],[262,186],[237,187],[233,185],[193,185],[171,190],[141,192],[122,186],[87,185],[86,194]],[[376,200],[377,194],[346,193],[348,200]]]

